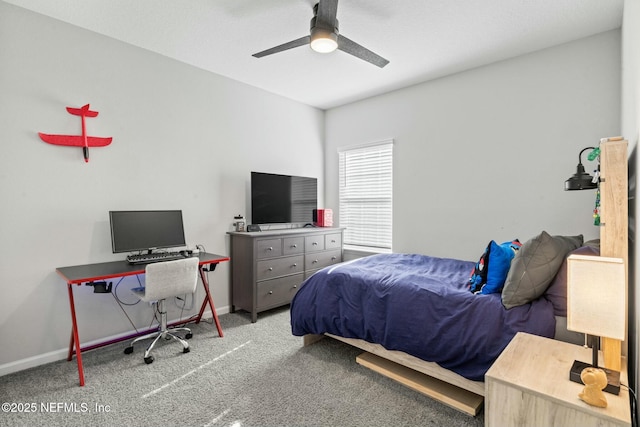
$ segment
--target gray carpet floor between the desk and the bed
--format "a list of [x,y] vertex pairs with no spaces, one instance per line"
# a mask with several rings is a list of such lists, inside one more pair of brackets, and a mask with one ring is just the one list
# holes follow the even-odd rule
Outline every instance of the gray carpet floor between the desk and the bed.
[[[191,352],[159,343],[143,361],[127,343],[0,377],[0,426],[482,426],[355,362],[361,352],[332,339],[308,347],[291,335],[288,307],[192,325]],[[28,411],[31,409],[32,411]],[[18,411],[19,410],[19,411]]]

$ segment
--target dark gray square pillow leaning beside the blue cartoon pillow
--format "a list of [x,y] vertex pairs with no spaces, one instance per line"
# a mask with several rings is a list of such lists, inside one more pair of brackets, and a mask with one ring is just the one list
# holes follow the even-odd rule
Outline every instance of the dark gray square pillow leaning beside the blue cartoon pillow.
[[525,242],[511,261],[502,304],[513,308],[544,294],[567,254],[582,242],[582,235],[551,236],[546,231]]

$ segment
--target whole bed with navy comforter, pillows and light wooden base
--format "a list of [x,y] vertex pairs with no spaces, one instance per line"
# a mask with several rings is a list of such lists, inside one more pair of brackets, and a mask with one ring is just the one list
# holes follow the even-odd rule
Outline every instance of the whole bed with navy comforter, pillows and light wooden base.
[[[397,367],[372,354],[482,396],[485,372],[517,332],[582,340],[564,326],[564,260],[570,253],[597,254],[597,245],[583,246],[582,236],[551,236],[546,231],[517,251],[512,245],[492,241],[477,262],[392,253],[327,267],[307,279],[294,297],[292,332],[306,336],[307,343],[328,335],[360,347],[369,354],[359,356],[358,362],[383,374]],[[501,291],[471,289],[479,265],[488,266],[487,273],[491,265],[497,268],[497,255],[488,256],[497,246],[513,250],[514,267],[502,272],[506,285],[501,287],[520,288],[510,299]],[[540,283],[544,292],[532,289]],[[479,410],[481,399],[453,390],[458,400],[443,400],[446,386],[435,387],[439,400],[473,415]]]

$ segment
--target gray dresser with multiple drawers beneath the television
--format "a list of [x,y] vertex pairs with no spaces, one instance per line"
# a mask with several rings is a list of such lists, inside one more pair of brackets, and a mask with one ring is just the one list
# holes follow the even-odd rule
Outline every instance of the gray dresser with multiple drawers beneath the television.
[[289,304],[302,282],[342,262],[342,228],[229,232],[231,311],[258,313]]

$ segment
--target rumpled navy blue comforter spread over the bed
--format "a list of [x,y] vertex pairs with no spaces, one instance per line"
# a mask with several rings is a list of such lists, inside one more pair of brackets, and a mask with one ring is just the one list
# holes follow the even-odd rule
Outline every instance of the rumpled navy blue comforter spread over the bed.
[[292,332],[360,338],[484,381],[517,332],[552,338],[555,318],[545,298],[507,310],[499,293],[471,293],[473,267],[449,258],[380,254],[324,268],[291,302]]

